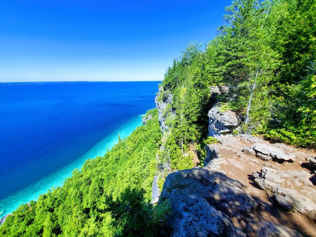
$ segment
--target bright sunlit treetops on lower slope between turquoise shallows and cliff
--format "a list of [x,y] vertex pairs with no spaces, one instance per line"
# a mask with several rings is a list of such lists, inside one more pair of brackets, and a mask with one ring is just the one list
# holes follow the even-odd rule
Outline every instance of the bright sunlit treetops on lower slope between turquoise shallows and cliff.
[[[108,195],[118,198],[127,188],[142,189],[143,202],[150,200],[156,173],[155,155],[161,131],[157,110],[145,126],[138,127],[104,157],[87,160],[81,170],[43,195],[37,202],[21,205],[0,227],[1,236],[110,236],[106,213]],[[139,194],[139,193],[136,193]],[[154,210],[152,210],[154,212]],[[156,218],[156,217],[155,217]],[[156,220],[156,219],[155,219]]]

